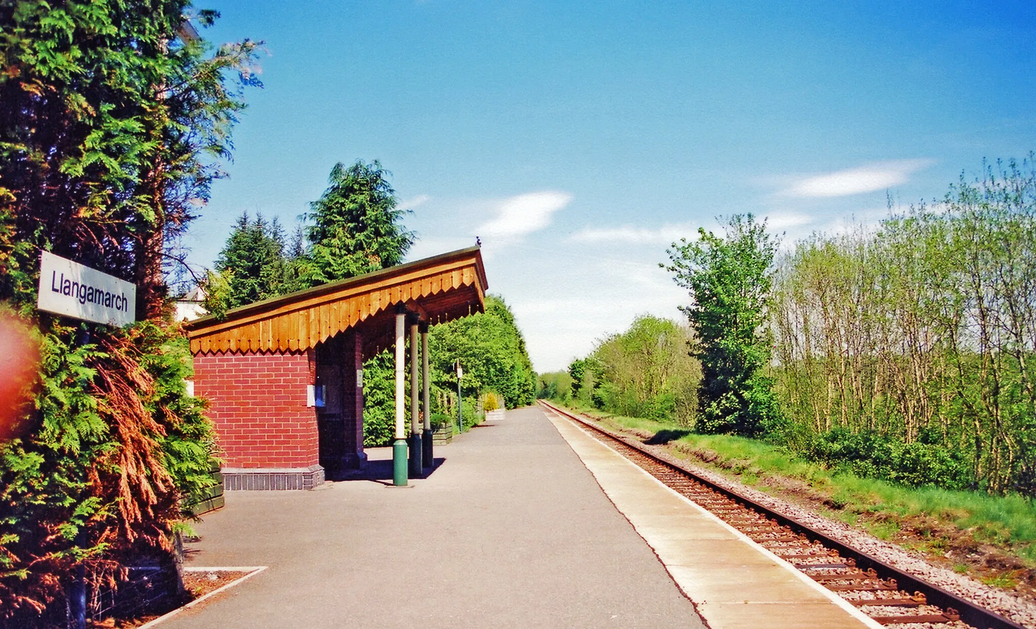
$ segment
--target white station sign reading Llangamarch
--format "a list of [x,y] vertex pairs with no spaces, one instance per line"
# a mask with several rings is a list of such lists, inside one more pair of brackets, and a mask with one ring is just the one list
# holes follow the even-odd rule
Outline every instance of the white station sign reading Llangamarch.
[[40,252],[39,310],[121,327],[136,320],[137,287],[107,273]]

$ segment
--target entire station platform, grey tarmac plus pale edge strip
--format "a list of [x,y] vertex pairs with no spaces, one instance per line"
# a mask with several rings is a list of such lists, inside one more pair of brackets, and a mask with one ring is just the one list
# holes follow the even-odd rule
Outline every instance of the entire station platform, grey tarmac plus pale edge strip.
[[870,626],[540,408],[437,448],[409,488],[368,453],[357,480],[228,492],[189,565],[267,569],[162,626]]

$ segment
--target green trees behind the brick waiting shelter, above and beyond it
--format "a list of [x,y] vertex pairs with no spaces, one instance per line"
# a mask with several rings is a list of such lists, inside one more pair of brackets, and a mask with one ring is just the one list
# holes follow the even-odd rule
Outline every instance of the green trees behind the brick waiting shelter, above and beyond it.
[[[377,161],[337,164],[327,190],[310,204],[290,239],[277,219],[242,213],[205,281],[206,309],[221,314],[401,263],[415,234],[403,225],[404,211],[396,207],[387,176]],[[512,408],[535,399],[525,341],[499,297],[487,296],[485,313],[431,326],[429,353],[436,422],[457,417],[457,360],[464,369],[460,406],[468,424],[486,394],[500,396]],[[395,434],[394,362],[386,349],[364,364],[366,446],[387,445]]]

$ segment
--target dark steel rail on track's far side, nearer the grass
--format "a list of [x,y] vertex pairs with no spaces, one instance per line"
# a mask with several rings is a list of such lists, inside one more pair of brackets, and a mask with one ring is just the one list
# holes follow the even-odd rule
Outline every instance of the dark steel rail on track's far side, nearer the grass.
[[[643,444],[637,441],[634,438],[623,434],[616,434],[610,430],[597,426],[595,423],[589,422],[583,418],[578,417],[564,408],[555,406],[550,402],[545,400],[538,400],[538,402],[554,412],[564,416],[578,424],[589,428],[597,434],[604,435],[608,439],[613,439],[623,444],[624,446],[637,451],[639,454],[652,459],[654,462],[661,464],[678,474],[690,477],[694,482],[700,483],[707,486],[709,489],[745,506],[751,511],[755,511],[767,518],[775,520],[781,526],[787,526],[792,531],[805,536],[812,542],[822,544],[823,546],[835,550],[843,557],[851,559],[855,562],[857,568],[862,571],[873,571],[876,573],[877,577],[881,579],[894,579],[900,590],[918,592],[924,595],[927,600],[927,604],[942,607],[944,609],[952,609],[958,616],[960,621],[975,627],[977,629],[1026,629],[1023,625],[1015,623],[995,611],[990,611],[984,607],[981,607],[952,592],[948,592],[939,585],[929,583],[915,575],[903,572],[902,570],[895,568],[887,564],[886,562],[869,554],[863,550],[854,548],[843,542],[840,542],[828,535],[816,531],[809,524],[798,520],[797,518],[788,515],[784,515],[773,509],[757,503],[756,501],[742,495],[737,491],[732,491],[714,483],[713,481],[698,476],[695,471],[688,469],[678,462],[667,460],[665,458],[659,457],[657,454],[652,452]],[[708,510],[708,507],[704,507]],[[789,562],[793,563],[794,562]],[[819,581],[818,581],[819,582]],[[823,584],[823,583],[822,583]],[[830,588],[835,591],[834,588]],[[875,603],[880,605],[881,603]],[[943,621],[945,622],[945,621]]]

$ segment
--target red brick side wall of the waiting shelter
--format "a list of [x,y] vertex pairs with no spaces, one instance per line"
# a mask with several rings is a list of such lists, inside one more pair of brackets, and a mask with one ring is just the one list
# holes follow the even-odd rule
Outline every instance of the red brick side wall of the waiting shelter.
[[200,354],[195,395],[209,400],[226,467],[317,464],[316,409],[306,405],[313,352]]

